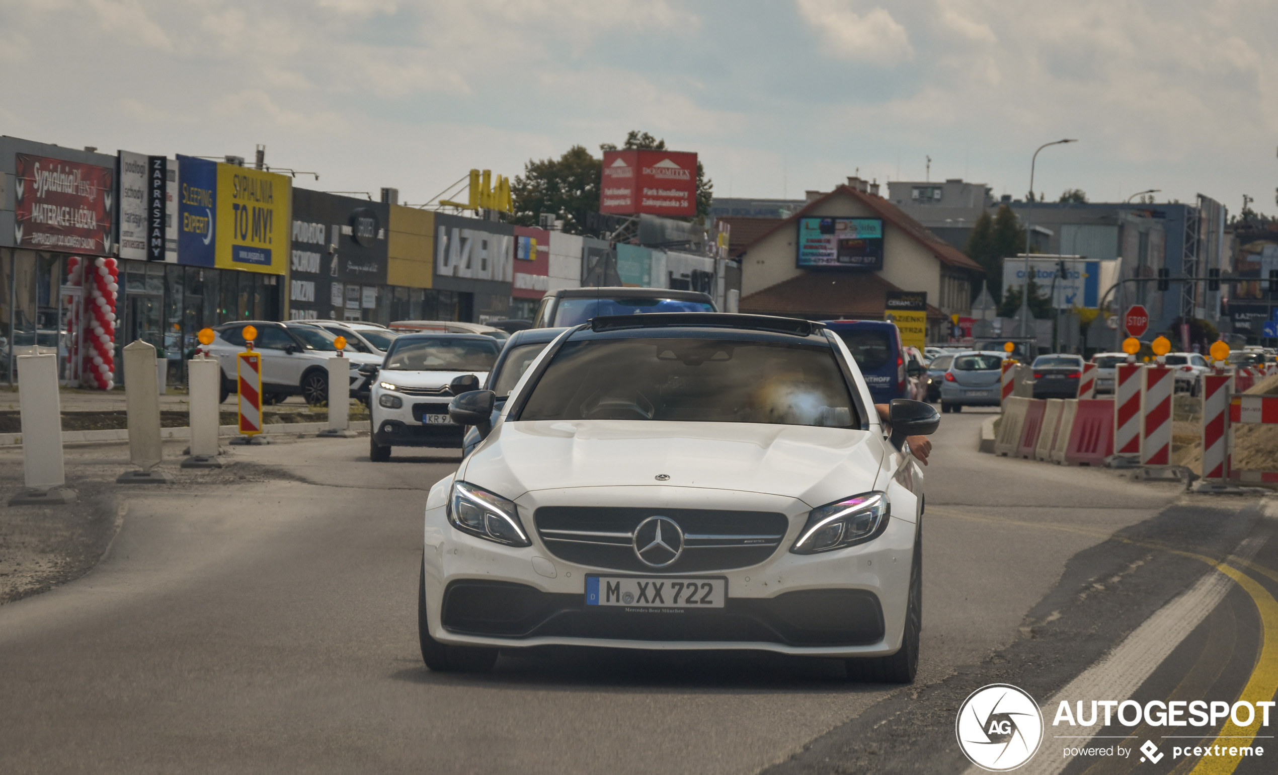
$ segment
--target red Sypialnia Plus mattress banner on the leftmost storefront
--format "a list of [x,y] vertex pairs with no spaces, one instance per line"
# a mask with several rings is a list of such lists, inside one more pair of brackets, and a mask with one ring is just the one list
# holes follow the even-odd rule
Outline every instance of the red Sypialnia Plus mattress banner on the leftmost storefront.
[[14,166],[15,246],[111,254],[115,170],[27,153]]

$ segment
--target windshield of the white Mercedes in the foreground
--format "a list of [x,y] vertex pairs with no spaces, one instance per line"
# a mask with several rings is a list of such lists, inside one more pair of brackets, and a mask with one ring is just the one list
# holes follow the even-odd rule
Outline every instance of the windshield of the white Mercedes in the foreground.
[[727,339],[569,341],[519,419],[860,426],[828,347]]

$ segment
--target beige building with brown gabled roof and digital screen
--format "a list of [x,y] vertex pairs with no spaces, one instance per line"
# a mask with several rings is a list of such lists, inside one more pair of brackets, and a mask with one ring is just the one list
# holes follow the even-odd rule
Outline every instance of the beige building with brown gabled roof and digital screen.
[[966,316],[980,266],[849,178],[736,252],[741,312],[809,320],[883,320],[888,294],[923,294],[928,338],[943,340],[951,315]]

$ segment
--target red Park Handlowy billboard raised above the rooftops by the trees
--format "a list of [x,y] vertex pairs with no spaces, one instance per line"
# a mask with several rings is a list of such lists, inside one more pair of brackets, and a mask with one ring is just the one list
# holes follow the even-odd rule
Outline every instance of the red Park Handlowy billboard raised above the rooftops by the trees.
[[697,153],[604,151],[599,212],[697,215]]

